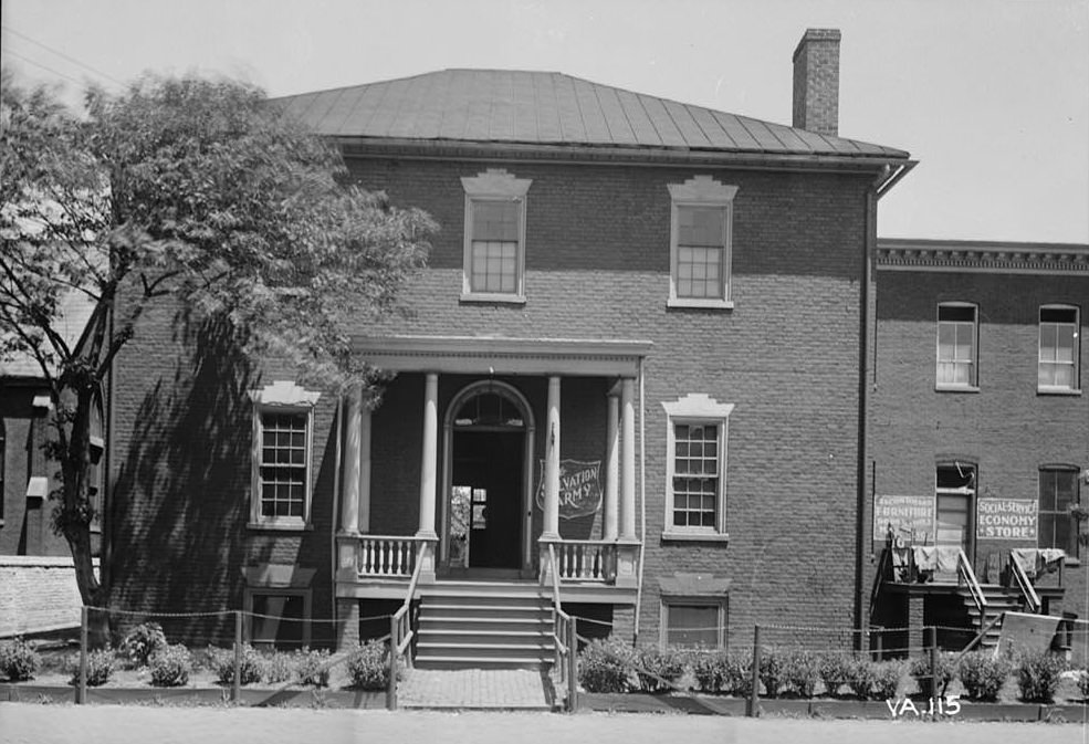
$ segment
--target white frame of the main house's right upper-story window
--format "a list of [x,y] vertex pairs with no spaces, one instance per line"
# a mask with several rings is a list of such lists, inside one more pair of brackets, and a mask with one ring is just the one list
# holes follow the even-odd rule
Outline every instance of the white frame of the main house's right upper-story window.
[[[694,176],[683,184],[668,184],[670,206],[669,231],[669,307],[702,307],[712,310],[730,310],[733,307],[731,287],[733,285],[733,200],[737,187],[721,184],[711,176]],[[722,247],[722,296],[719,297],[684,297],[677,291],[680,234],[679,210],[682,207],[721,208],[723,218]]]

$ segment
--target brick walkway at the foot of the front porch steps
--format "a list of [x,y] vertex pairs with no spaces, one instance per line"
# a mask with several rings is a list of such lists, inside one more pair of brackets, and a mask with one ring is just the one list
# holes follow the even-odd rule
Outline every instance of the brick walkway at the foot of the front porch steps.
[[525,669],[410,669],[397,685],[402,708],[549,710],[541,672]]

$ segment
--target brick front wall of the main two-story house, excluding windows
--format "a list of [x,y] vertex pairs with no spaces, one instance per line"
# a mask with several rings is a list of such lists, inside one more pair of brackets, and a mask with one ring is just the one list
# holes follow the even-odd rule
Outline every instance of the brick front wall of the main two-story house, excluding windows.
[[[369,188],[442,226],[430,268],[402,312],[365,333],[624,338],[646,359],[647,556],[640,639],[659,632],[658,579],[732,579],[731,643],[753,622],[855,621],[859,282],[868,179],[835,175],[512,164],[527,196],[524,306],[460,304],[464,195],[477,163],[350,163]],[[732,311],[669,310],[668,184],[709,174],[734,202]],[[291,370],[248,369],[221,339],[177,337],[150,314],[119,365],[115,599],[159,609],[240,607],[242,570],[316,568],[314,615],[327,617],[333,514],[332,395],[316,411],[313,530],[247,528],[250,408],[245,391]],[[196,340],[196,339],[195,339]],[[440,377],[446,402],[471,378]],[[545,380],[512,379],[544,420]],[[605,459],[611,380],[565,379],[563,457]],[[417,526],[422,377],[399,376],[374,416],[373,532]],[[734,404],[724,543],[667,543],[663,401],[703,392]],[[543,439],[538,450],[543,453]],[[538,474],[534,474],[534,483]],[[395,494],[404,494],[399,503]],[[540,513],[534,510],[534,532]],[[562,525],[566,531],[572,525]],[[599,534],[600,525],[591,527]],[[799,601],[804,598],[804,601]],[[315,628],[315,636],[317,629]],[[788,637],[782,639],[784,642]]]

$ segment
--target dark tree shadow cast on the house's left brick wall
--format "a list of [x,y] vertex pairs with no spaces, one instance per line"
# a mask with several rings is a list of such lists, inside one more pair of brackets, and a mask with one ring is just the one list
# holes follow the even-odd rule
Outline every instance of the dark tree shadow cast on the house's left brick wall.
[[[258,375],[228,324],[179,324],[172,376],[148,380],[111,499],[111,607],[242,607],[251,404]],[[149,618],[151,619],[151,618]],[[223,645],[231,616],[154,618],[167,637]],[[174,631],[171,633],[171,630]]]

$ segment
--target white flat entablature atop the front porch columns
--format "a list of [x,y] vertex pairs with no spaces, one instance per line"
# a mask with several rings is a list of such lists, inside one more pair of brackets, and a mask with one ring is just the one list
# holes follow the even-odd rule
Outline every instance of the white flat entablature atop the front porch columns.
[[353,348],[388,371],[636,377],[649,340],[498,336],[357,336]]

